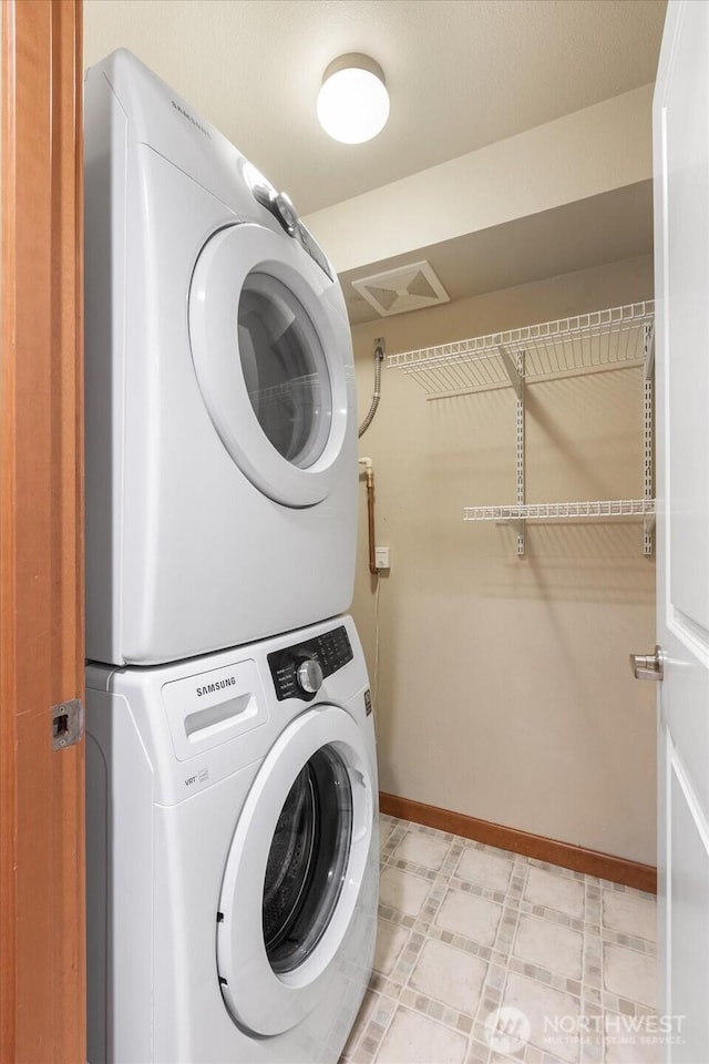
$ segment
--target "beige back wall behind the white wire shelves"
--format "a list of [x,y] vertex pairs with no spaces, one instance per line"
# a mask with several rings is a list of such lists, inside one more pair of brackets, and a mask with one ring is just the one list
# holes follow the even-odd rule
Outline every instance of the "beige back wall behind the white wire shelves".
[[[353,329],[360,417],[372,340],[393,354],[653,297],[646,257]],[[353,614],[376,688],[381,789],[655,862],[655,692],[628,654],[654,645],[655,569],[638,523],[464,524],[514,502],[510,390],[427,402],[384,370],[360,454],[374,460],[381,577],[367,567],[364,488]],[[527,501],[639,498],[637,369],[528,387]]]

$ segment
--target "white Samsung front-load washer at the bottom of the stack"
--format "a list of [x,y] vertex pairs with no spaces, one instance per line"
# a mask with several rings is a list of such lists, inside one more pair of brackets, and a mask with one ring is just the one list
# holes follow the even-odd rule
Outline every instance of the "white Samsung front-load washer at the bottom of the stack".
[[376,939],[370,706],[350,617],[90,667],[92,1064],[338,1060]]

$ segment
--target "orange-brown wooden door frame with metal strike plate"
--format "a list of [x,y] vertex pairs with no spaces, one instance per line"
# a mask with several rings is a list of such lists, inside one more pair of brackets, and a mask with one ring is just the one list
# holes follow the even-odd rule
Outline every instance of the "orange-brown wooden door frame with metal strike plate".
[[0,1060],[85,1061],[81,0],[2,0]]

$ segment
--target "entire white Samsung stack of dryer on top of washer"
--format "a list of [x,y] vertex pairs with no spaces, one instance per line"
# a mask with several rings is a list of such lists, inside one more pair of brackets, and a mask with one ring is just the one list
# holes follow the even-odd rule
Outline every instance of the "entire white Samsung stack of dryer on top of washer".
[[379,874],[340,286],[123,50],[85,203],[89,1060],[335,1062]]

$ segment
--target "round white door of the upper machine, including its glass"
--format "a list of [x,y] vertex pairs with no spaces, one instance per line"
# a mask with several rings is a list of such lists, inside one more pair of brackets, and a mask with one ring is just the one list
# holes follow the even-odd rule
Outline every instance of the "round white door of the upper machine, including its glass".
[[353,417],[349,326],[331,288],[296,241],[240,224],[207,241],[189,289],[192,357],[212,421],[251,483],[288,507],[330,493]]

